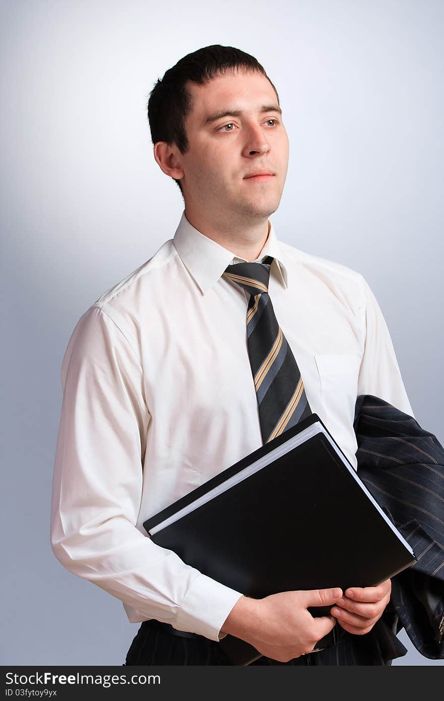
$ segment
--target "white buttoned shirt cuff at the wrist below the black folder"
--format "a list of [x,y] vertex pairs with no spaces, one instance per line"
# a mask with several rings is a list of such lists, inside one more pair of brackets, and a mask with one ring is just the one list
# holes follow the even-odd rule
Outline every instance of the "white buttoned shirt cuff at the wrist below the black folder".
[[220,629],[243,594],[200,573],[184,596],[174,627],[219,642]]

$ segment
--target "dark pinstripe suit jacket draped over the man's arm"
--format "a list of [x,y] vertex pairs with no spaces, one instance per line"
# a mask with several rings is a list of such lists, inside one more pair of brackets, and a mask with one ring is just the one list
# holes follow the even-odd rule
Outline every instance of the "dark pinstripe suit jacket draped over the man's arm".
[[373,395],[355,405],[357,471],[408,540],[417,562],[391,579],[382,618],[362,636],[311,655],[316,665],[387,665],[407,653],[403,627],[424,657],[444,658],[444,449],[400,409]]

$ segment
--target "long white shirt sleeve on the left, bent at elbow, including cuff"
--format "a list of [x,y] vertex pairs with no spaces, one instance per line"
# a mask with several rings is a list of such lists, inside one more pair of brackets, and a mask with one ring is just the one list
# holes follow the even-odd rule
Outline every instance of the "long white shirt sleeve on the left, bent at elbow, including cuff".
[[69,572],[146,619],[217,641],[243,594],[187,565],[136,526],[150,414],[132,341],[97,306],[83,314],[69,339],[62,363],[51,547]]

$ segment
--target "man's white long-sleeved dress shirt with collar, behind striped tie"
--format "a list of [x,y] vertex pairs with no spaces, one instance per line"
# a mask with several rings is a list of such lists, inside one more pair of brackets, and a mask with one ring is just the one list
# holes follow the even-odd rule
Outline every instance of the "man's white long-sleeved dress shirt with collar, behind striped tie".
[[[269,295],[312,411],[356,468],[356,396],[411,416],[384,317],[363,276],[278,241]],[[243,259],[182,214],[173,239],[97,299],[62,362],[51,545],[70,572],[149,618],[219,639],[243,592],[152,542],[142,523],[262,445],[246,343]]]

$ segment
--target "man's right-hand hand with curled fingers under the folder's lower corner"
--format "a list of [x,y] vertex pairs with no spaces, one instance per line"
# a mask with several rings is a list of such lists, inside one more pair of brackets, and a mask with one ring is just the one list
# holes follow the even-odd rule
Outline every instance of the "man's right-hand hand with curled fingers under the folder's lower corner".
[[390,579],[377,587],[351,587],[330,609],[330,613],[347,632],[364,635],[370,632],[381,618],[384,608],[389,603],[390,594]]

